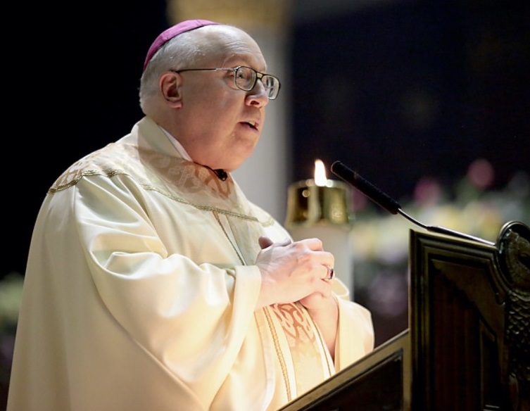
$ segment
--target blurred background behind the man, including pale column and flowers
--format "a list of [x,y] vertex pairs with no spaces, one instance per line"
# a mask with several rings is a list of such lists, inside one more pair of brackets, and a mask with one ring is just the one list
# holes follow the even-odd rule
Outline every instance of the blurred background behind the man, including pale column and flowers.
[[[20,7],[19,10],[16,8]],[[524,0],[101,0],[19,4],[4,38],[11,132],[0,270],[0,400],[20,285],[46,190],[73,161],[130,132],[147,49],[169,25],[206,18],[260,44],[282,91],[254,155],[235,174],[284,221],[289,186],[335,160],[403,210],[495,241],[530,223],[530,3]],[[11,64],[10,64],[11,63]],[[377,345],[408,327],[413,229],[352,190],[355,300]],[[11,236],[13,234],[13,236]],[[0,409],[3,403],[0,403]]]

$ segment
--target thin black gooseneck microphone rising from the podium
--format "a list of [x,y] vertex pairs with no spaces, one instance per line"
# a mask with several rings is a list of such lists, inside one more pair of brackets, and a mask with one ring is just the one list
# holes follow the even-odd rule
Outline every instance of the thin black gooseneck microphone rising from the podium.
[[484,239],[481,239],[476,236],[470,236],[469,234],[464,234],[461,232],[454,231],[452,229],[448,229],[445,227],[440,227],[438,225],[424,225],[422,222],[419,222],[415,220],[414,218],[410,217],[407,213],[405,213],[403,210],[401,210],[401,205],[388,196],[386,193],[378,189],[376,186],[374,186],[372,183],[368,182],[366,179],[364,179],[361,175],[359,175],[358,172],[355,172],[351,170],[351,168],[346,167],[341,161],[335,161],[332,164],[331,167],[332,172],[337,177],[340,177],[348,184],[351,184],[356,189],[358,189],[362,194],[370,198],[374,203],[379,205],[381,208],[384,208],[389,213],[392,214],[400,214],[403,215],[407,220],[414,223],[415,225],[422,227],[422,229],[426,229],[430,232],[436,232],[438,234],[446,234],[448,236],[455,236],[460,239],[466,239],[471,241],[477,241],[482,244],[488,244],[488,246],[495,246],[495,243],[492,243],[491,241],[487,241]]

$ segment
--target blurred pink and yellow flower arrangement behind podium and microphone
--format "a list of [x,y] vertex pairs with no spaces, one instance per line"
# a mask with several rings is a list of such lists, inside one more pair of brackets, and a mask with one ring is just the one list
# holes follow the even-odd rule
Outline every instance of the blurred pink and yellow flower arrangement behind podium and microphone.
[[[518,172],[503,189],[491,189],[494,172],[483,159],[469,165],[453,186],[434,177],[417,182],[403,211],[424,225],[437,225],[496,242],[506,222],[530,224],[530,175]],[[408,327],[408,253],[410,229],[421,231],[399,215],[391,215],[362,194],[354,193],[351,231],[355,301],[372,311],[376,343]]]

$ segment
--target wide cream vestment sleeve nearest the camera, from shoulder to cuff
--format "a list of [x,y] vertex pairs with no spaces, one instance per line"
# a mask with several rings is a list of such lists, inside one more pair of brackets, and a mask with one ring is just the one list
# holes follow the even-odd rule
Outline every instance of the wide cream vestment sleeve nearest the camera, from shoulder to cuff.
[[258,268],[239,263],[208,210],[127,176],[84,177],[69,191],[57,204],[71,204],[64,224],[102,308],[168,372],[215,392],[253,324]]

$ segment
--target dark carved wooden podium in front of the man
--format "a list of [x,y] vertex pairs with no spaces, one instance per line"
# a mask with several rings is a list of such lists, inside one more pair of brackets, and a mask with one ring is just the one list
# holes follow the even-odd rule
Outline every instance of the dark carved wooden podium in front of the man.
[[281,411],[530,411],[530,227],[410,231],[409,327]]

